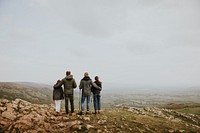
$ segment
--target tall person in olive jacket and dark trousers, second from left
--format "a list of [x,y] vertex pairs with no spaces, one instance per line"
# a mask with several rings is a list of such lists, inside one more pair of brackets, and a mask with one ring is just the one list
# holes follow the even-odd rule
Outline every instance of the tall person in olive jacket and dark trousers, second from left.
[[70,71],[66,72],[66,77],[61,80],[58,86],[64,85],[64,96],[65,96],[65,111],[69,114],[68,100],[71,105],[71,113],[74,113],[74,89],[77,87],[76,81],[71,75]]

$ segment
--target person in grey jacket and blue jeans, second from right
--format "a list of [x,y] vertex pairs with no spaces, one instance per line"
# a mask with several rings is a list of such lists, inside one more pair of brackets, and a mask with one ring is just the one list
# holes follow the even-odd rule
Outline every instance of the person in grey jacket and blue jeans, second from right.
[[86,114],[90,114],[90,96],[91,96],[91,88],[99,88],[89,77],[88,72],[84,73],[83,79],[81,79],[79,89],[82,89],[82,97],[81,97],[81,112],[79,113],[82,115],[84,113],[84,102],[87,99],[87,112]]

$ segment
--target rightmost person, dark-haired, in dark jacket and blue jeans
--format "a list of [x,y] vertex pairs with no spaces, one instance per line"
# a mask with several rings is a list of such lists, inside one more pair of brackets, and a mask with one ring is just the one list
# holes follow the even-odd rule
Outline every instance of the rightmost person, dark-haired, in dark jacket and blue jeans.
[[95,114],[100,113],[101,110],[101,90],[102,90],[102,82],[99,80],[98,76],[95,76],[94,83],[99,86],[99,88],[92,87],[93,99],[94,99],[94,110]]

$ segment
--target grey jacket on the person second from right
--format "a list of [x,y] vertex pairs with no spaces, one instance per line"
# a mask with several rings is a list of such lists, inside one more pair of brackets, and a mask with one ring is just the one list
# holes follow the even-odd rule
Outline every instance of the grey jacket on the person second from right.
[[83,79],[81,79],[79,89],[82,89],[82,96],[90,96],[92,87],[100,88],[92,82],[90,77],[84,77]]

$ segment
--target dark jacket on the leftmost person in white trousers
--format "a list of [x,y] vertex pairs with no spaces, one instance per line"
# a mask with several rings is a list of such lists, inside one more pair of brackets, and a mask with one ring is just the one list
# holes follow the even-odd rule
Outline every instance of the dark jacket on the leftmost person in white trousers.
[[53,86],[53,100],[62,100],[62,99],[64,99],[63,88],[55,84]]

